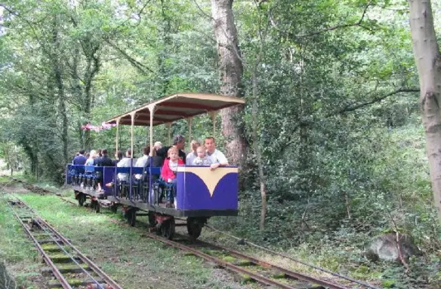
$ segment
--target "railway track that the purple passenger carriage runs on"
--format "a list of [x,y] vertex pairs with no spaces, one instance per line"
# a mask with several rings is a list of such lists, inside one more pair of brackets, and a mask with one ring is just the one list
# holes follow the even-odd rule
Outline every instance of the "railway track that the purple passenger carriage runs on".
[[[19,182],[26,184],[23,181],[19,181]],[[31,186],[31,185],[27,184],[27,186]],[[35,188],[37,186],[32,186],[32,187]],[[30,191],[32,191],[31,188],[29,189]],[[37,189],[43,192],[43,194],[46,193],[53,194],[53,192],[38,187]],[[59,197],[64,202],[77,205],[76,202],[73,202],[72,200],[68,200],[68,198],[62,197],[61,195],[59,195]],[[110,218],[110,220],[115,224],[128,226],[125,222],[118,222],[117,220],[114,220],[112,218]],[[320,279],[311,275],[307,275],[302,272],[295,272],[293,270],[282,268],[280,266],[270,264],[267,261],[263,261],[261,259],[257,259],[256,257],[252,257],[250,255],[246,255],[236,250],[231,250],[229,248],[225,248],[216,244],[210,244],[200,240],[194,242],[193,240],[189,239],[187,236],[184,235],[178,235],[178,237],[180,237],[181,239],[171,241],[163,237],[159,237],[155,233],[149,232],[146,234],[145,228],[148,227],[149,225],[143,222],[138,222],[138,224],[140,224],[141,226],[136,226],[135,228],[138,229],[141,233],[143,233],[143,235],[146,235],[151,239],[167,244],[168,246],[178,248],[185,252],[192,253],[192,255],[201,257],[207,261],[216,264],[217,266],[225,268],[231,272],[238,273],[239,275],[242,275],[245,279],[252,279],[254,281],[264,284],[265,286],[271,286],[271,288],[285,288],[285,289],[356,288],[352,286],[347,287],[345,285],[336,283],[334,281],[328,281],[325,279]],[[180,225],[179,223],[176,224],[176,226],[179,225]],[[358,283],[358,286],[360,285],[360,283]],[[358,288],[377,288],[377,287],[369,286],[369,284],[365,284],[365,286],[361,286]]]

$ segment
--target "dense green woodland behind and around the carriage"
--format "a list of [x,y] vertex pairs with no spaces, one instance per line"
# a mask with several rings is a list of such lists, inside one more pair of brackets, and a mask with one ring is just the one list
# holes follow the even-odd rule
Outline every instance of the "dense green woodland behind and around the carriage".
[[[431,185],[424,131],[429,151],[441,136],[430,134],[433,109],[419,100],[433,69],[416,59],[429,54],[413,46],[418,31],[409,25],[409,7],[422,2],[2,1],[1,155],[12,170],[63,182],[79,149],[114,151],[116,130],[82,130],[87,122],[176,92],[240,96],[247,105],[222,111],[216,135],[241,167],[240,216],[218,226],[389,280],[384,286],[435,286],[441,224],[432,188],[436,200],[440,180]],[[441,3],[428,5],[435,30],[427,33],[439,42]],[[429,66],[440,65],[430,43]],[[438,107],[441,77],[433,79],[427,99]],[[439,130],[439,107],[434,113]],[[187,122],[172,129],[185,134]],[[192,133],[209,136],[209,116],[194,120]],[[148,137],[136,128],[136,155]],[[167,128],[155,128],[154,140],[167,143]],[[128,127],[120,141],[130,146]],[[388,232],[410,235],[423,254],[402,264],[366,259],[365,242]]]

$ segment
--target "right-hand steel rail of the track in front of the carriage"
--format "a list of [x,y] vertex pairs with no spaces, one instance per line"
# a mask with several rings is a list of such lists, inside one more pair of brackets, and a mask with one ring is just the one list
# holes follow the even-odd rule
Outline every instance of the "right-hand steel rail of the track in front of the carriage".
[[334,282],[331,282],[331,281],[325,281],[325,280],[318,279],[316,277],[312,277],[312,276],[309,276],[309,275],[306,275],[306,274],[303,274],[303,273],[294,272],[292,270],[288,270],[288,269],[282,268],[282,267],[277,266],[275,264],[268,263],[267,261],[263,261],[261,259],[255,258],[255,257],[249,256],[249,255],[245,255],[245,254],[240,253],[240,252],[238,252],[236,250],[231,250],[231,249],[224,248],[222,246],[218,246],[218,245],[214,245],[214,244],[210,244],[210,243],[207,243],[207,242],[204,242],[204,241],[198,241],[198,243],[199,244],[205,244],[206,246],[210,246],[212,248],[216,248],[216,250],[224,250],[225,252],[229,253],[229,255],[233,255],[235,257],[239,257],[239,258],[242,258],[242,259],[247,259],[247,260],[251,261],[254,264],[257,264],[257,265],[260,265],[260,266],[263,266],[263,267],[266,267],[266,268],[272,268],[272,269],[275,269],[275,270],[279,270],[280,272],[283,272],[285,275],[294,277],[296,279],[300,279],[300,280],[303,280],[303,281],[309,281],[309,282],[312,282],[312,283],[317,283],[318,285],[326,286],[327,288],[332,288],[332,289],[347,289],[347,287],[343,286],[342,284],[334,283]]

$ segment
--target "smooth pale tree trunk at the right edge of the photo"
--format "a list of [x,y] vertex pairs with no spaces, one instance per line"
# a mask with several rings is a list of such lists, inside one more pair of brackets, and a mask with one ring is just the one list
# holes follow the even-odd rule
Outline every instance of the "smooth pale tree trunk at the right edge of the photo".
[[441,217],[441,55],[430,0],[409,0],[410,24],[418,75],[420,109],[435,199]]

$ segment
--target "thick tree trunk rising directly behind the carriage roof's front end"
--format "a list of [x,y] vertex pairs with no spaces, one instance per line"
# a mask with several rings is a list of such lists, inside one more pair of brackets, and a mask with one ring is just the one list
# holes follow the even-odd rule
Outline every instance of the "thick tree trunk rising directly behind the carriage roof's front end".
[[[243,96],[241,78],[243,63],[240,58],[238,36],[234,24],[233,0],[212,0],[213,28],[218,43],[219,70],[222,85],[220,93],[225,96]],[[222,109],[222,133],[227,144],[227,156],[233,164],[245,163],[246,143],[243,124],[237,125],[237,118],[243,114],[243,105]]]

